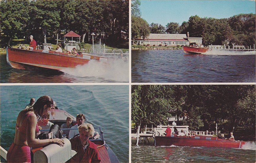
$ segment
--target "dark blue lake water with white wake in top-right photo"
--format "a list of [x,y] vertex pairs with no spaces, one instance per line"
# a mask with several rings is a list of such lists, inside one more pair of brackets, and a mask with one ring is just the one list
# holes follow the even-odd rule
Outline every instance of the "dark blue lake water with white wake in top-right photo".
[[254,83],[256,77],[255,51],[132,50],[131,62],[133,83]]

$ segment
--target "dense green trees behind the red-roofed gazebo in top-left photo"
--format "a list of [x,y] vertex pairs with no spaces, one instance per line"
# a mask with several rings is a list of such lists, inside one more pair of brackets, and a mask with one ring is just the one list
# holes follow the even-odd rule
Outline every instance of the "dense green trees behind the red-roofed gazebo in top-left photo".
[[38,39],[74,31],[83,36],[105,32],[109,42],[120,43],[121,30],[129,33],[129,1],[1,1],[1,33],[12,39],[38,33]]

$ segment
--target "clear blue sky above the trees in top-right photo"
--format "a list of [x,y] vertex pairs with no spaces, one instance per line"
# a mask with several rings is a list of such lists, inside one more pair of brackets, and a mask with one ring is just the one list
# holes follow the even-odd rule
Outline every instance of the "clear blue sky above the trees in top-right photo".
[[169,22],[180,25],[189,17],[229,18],[237,14],[255,14],[255,1],[250,0],[141,0],[141,17],[166,26]]

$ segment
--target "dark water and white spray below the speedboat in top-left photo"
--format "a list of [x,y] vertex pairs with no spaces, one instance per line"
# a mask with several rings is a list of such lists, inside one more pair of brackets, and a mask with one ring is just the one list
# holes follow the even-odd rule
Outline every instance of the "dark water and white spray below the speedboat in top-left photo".
[[6,61],[6,53],[0,55],[1,83],[128,83],[129,62],[110,59],[109,63],[91,62],[65,68],[61,71],[40,69],[37,71],[12,68]]

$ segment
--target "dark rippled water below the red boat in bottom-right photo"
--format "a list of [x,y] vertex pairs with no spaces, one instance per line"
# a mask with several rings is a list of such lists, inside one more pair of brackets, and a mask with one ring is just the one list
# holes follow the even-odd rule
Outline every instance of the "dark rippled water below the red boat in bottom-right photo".
[[153,146],[132,143],[131,162],[255,162],[255,142],[246,149]]

